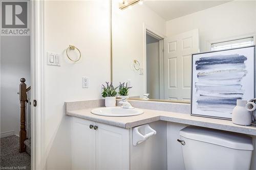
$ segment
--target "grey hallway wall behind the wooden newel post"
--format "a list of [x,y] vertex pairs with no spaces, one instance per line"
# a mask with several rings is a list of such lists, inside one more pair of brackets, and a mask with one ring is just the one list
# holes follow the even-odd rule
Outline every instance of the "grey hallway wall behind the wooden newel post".
[[[30,36],[1,37],[1,137],[19,134],[20,78],[30,86]],[[11,132],[11,133],[7,133]]]

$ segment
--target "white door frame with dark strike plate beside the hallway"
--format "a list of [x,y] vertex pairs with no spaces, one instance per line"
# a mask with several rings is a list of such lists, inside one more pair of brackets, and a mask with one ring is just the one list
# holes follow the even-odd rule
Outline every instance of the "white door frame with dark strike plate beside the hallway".
[[45,169],[44,154],[44,1],[30,1],[31,28],[31,167]]

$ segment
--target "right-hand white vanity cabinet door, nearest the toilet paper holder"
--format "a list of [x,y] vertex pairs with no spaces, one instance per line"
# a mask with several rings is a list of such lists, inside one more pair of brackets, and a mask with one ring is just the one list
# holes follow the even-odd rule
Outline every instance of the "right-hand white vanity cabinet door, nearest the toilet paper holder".
[[129,130],[99,123],[97,126],[96,169],[129,169]]

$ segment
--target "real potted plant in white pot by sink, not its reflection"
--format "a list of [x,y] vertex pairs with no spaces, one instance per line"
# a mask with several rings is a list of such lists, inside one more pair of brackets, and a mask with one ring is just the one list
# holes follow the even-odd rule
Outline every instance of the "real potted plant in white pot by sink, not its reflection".
[[106,86],[102,84],[103,92],[102,97],[105,98],[105,107],[115,107],[116,106],[116,89],[118,87],[114,87],[112,82],[109,84],[109,82],[106,82]]

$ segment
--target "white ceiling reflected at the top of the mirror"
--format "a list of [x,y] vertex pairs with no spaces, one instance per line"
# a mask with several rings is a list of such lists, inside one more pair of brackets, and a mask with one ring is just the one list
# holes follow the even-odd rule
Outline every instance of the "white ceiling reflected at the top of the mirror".
[[178,18],[230,1],[162,1],[144,0],[143,4],[155,11],[165,20]]

